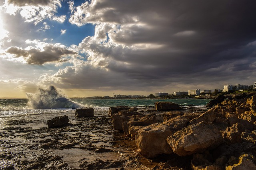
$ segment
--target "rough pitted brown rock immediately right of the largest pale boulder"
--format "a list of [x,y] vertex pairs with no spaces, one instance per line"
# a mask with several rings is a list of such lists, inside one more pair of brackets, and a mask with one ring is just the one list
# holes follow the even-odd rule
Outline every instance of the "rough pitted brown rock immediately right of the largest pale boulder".
[[227,127],[222,136],[227,143],[239,143],[241,142],[241,134],[245,130],[244,125],[236,123],[232,127]]

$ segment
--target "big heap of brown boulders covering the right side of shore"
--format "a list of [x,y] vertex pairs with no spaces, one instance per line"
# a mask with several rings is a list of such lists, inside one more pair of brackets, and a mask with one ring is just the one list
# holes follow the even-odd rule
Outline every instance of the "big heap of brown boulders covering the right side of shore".
[[[175,104],[156,103],[157,110],[178,109]],[[113,127],[134,140],[142,156],[173,155],[152,169],[248,170],[256,169],[256,95],[224,96],[209,102],[202,114],[170,111],[157,121],[156,114],[130,108],[113,113]],[[125,109],[125,110],[124,110]]]

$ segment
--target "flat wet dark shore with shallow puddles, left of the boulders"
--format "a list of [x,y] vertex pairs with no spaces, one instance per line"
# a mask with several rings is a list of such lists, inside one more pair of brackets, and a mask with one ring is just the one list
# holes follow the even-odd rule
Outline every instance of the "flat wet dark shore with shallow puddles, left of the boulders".
[[[162,121],[164,112],[140,111],[154,112]],[[164,162],[190,169],[186,157],[142,157],[130,138],[112,128],[107,111],[94,111],[88,118],[65,114],[69,124],[58,128],[48,128],[46,122],[64,113],[0,118],[0,169],[148,170]]]

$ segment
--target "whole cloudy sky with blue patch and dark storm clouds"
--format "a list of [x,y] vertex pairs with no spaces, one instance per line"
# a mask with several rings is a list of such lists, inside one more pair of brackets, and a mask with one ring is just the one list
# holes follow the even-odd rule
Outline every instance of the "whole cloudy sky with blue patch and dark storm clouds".
[[0,0],[0,98],[256,82],[256,1]]

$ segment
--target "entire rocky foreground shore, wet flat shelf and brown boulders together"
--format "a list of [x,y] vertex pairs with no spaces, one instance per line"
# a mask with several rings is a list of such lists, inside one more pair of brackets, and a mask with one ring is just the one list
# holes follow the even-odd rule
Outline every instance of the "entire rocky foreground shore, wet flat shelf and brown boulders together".
[[59,114],[67,123],[51,128],[54,113],[1,118],[0,169],[256,169],[256,96],[225,97],[211,107],[70,112]]

